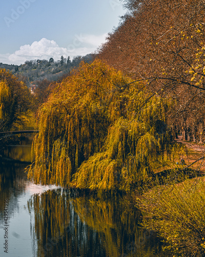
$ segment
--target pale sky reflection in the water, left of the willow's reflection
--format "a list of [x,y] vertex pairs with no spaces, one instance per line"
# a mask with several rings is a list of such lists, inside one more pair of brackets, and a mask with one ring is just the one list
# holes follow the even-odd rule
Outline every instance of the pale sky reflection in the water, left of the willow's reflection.
[[[1,215],[0,227],[0,256],[7,257],[30,257],[36,256],[37,245],[33,245],[35,234],[31,231],[31,224],[34,224],[34,212],[29,213],[28,200],[33,194],[41,194],[49,189],[56,189],[56,186],[34,185],[30,181],[25,181],[25,190],[18,196],[11,195],[9,199],[9,253],[2,251],[4,239],[4,219]],[[1,199],[5,200],[5,199]]]

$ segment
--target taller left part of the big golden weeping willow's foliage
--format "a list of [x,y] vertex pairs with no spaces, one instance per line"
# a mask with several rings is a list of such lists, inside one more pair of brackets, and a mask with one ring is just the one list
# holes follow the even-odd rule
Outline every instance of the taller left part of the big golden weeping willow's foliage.
[[99,60],[81,63],[38,110],[40,133],[29,177],[37,183],[70,184],[80,164],[103,147],[110,124],[126,114],[122,95],[130,82]]

